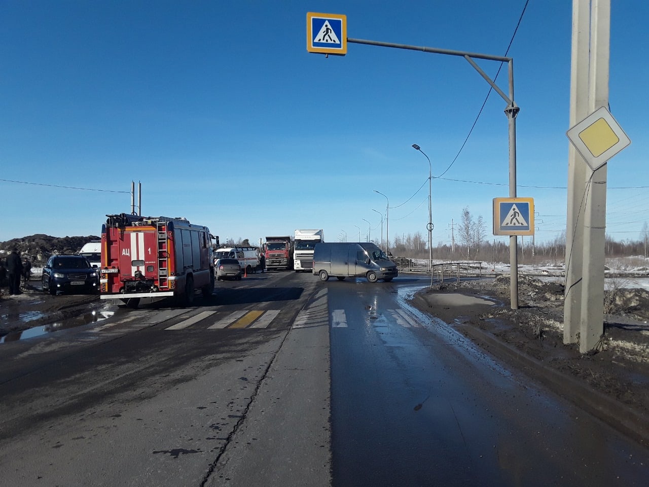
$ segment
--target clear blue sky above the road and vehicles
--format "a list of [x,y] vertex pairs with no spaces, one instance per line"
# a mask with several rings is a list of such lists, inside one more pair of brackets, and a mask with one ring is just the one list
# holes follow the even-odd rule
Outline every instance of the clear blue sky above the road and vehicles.
[[[379,240],[374,190],[391,240],[426,240],[428,161],[411,144],[432,161],[434,246],[465,206],[508,241],[491,237],[492,199],[509,195],[505,102],[491,93],[458,156],[489,91],[468,62],[360,44],[308,53],[306,14],[346,14],[349,38],[505,55],[524,5],[4,0],[0,241],[99,234],[106,214],[130,211],[131,181],[143,214],[222,240],[316,228],[365,240],[369,227]],[[571,22],[572,2],[532,0],[509,50],[517,195],[534,198],[537,242],[565,231]],[[649,4],[613,2],[609,104],[632,141],[608,163],[615,240],[649,220],[646,25]]]

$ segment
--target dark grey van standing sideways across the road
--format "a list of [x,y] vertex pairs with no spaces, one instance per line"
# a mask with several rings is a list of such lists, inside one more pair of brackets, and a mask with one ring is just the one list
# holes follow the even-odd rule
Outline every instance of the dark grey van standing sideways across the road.
[[366,277],[369,282],[392,281],[398,275],[397,264],[389,260],[371,242],[317,243],[313,252],[313,275],[321,281],[330,276],[339,281],[345,277]]

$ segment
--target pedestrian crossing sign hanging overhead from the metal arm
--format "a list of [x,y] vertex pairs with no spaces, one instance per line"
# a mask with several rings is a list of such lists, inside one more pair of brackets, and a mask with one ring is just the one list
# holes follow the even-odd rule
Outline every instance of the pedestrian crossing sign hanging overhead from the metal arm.
[[306,50],[310,53],[347,54],[347,16],[306,14]]

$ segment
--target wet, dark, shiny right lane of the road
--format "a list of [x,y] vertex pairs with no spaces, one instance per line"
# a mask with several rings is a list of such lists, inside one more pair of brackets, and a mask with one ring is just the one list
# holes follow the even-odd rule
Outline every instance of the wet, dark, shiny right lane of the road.
[[334,487],[646,485],[646,450],[445,323],[395,314],[398,288],[328,283],[346,318],[330,330]]

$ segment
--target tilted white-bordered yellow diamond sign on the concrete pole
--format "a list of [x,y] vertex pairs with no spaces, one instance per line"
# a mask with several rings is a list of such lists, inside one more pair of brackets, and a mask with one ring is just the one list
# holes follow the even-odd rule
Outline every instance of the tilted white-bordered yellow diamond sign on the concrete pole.
[[572,127],[566,135],[593,171],[631,144],[630,138],[604,106]]

